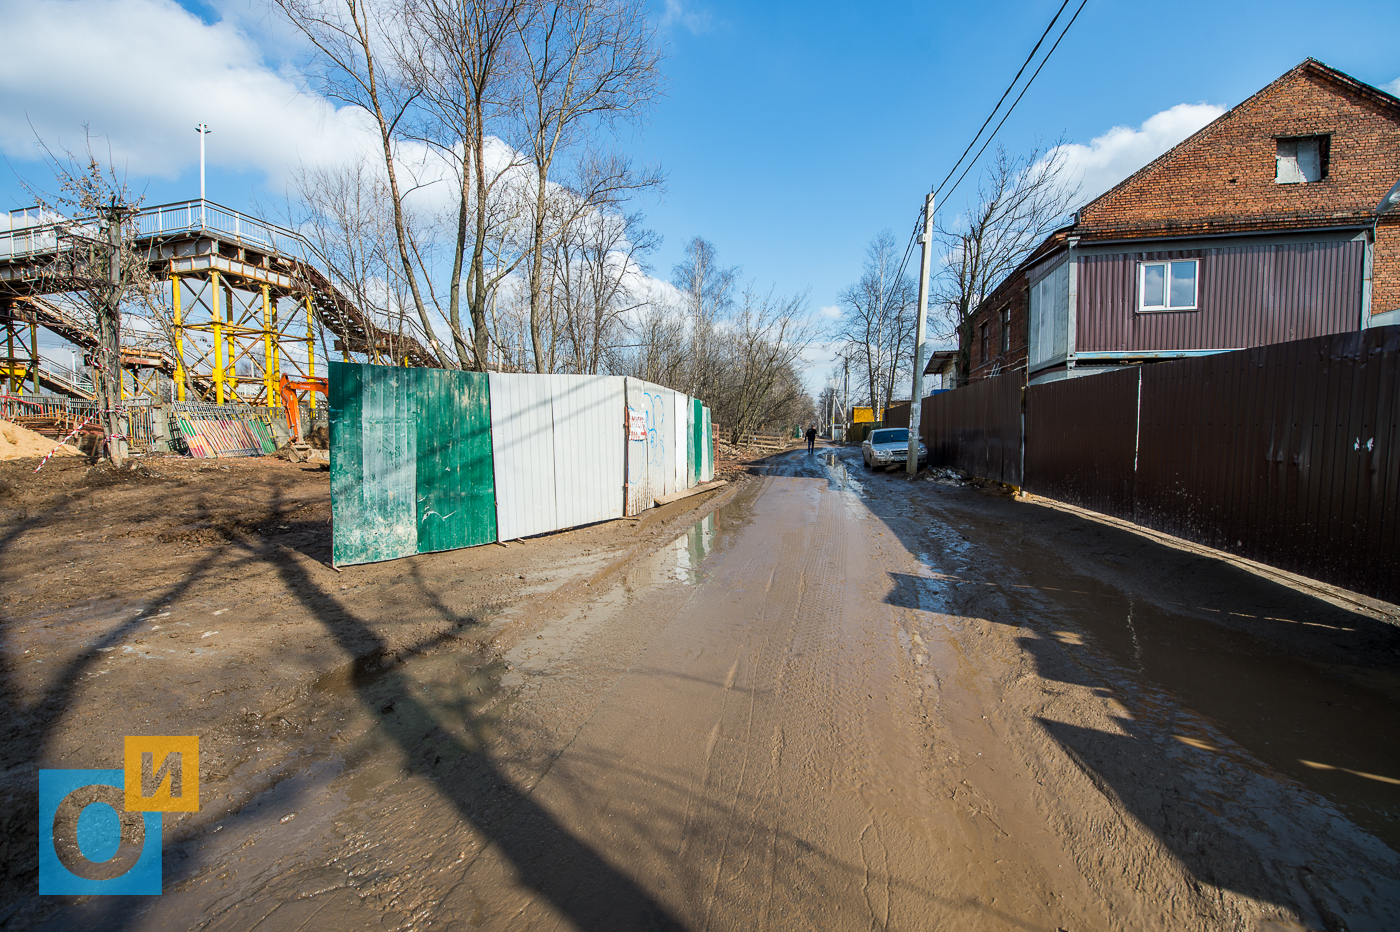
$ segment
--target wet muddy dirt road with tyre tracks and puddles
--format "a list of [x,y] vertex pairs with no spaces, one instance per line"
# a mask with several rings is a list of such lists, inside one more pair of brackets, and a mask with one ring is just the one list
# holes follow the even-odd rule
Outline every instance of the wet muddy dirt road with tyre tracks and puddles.
[[[1400,630],[854,448],[766,472],[230,732],[276,778],[249,754],[209,781],[164,896],[17,918],[1400,928]],[[382,599],[343,585],[318,613],[375,637]]]

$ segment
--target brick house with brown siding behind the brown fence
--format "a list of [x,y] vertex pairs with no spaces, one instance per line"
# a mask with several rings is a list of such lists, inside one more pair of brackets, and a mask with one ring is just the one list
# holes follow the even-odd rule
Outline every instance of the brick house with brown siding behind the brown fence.
[[970,378],[1400,323],[1400,99],[1309,59],[1071,221],[977,305]]

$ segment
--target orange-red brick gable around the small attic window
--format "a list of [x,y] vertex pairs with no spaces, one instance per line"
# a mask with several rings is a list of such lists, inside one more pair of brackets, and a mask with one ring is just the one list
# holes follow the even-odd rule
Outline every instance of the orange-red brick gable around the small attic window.
[[[1089,203],[1084,239],[1337,227],[1400,178],[1400,106],[1308,62]],[[1275,137],[1331,134],[1327,178],[1280,185]]]

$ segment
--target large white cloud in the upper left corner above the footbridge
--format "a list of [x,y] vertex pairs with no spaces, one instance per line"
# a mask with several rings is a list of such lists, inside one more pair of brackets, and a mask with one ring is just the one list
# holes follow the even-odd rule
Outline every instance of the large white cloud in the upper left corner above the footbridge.
[[83,126],[119,171],[172,178],[199,158],[281,186],[301,162],[372,154],[364,113],[305,92],[232,20],[206,24],[172,0],[0,0],[15,41],[0,56],[0,150],[81,150]]

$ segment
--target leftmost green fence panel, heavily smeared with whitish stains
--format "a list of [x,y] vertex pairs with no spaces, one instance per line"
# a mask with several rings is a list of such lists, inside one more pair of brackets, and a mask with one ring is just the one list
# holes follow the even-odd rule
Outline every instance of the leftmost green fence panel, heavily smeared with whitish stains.
[[417,553],[417,430],[409,369],[330,362],[332,560]]

